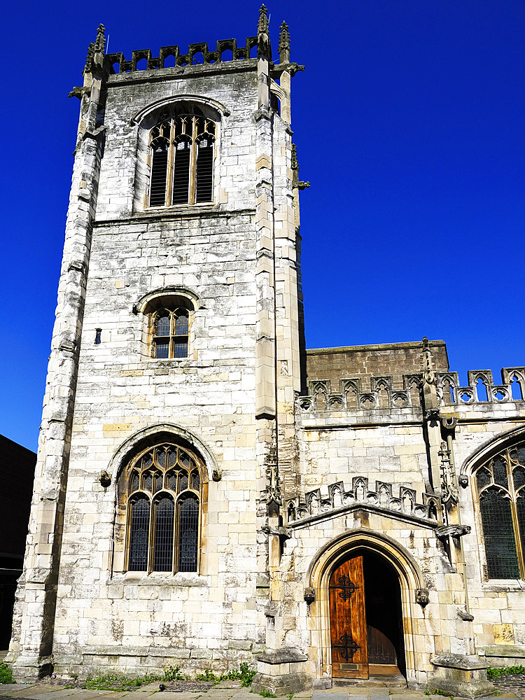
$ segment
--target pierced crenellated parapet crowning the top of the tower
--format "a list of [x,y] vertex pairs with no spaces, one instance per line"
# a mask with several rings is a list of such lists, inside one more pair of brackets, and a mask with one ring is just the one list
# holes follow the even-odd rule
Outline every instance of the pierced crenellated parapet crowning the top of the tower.
[[[253,49],[257,48],[257,37],[248,36],[244,46],[237,46],[236,39],[221,39],[217,42],[216,50],[209,50],[208,44],[194,43],[188,46],[187,53],[181,53],[179,46],[162,46],[159,55],[154,57],[151,55],[151,50],[141,49],[132,52],[131,60],[127,60],[123,53],[109,53],[104,59],[106,71],[113,73],[130,73],[132,71],[142,70],[138,68],[139,62],[146,60],[145,68],[149,70],[158,70],[167,67],[166,62],[170,57],[174,58],[175,66],[192,66],[197,64],[217,64],[228,61],[240,61],[249,58],[256,58],[256,52]],[[228,52],[228,57],[225,53]],[[231,54],[230,54],[231,52]],[[255,54],[255,55],[252,55]]]

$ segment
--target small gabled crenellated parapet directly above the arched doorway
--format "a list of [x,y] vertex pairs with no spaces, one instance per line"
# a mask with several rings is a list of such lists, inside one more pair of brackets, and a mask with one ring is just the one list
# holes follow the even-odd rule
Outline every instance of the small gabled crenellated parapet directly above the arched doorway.
[[437,521],[440,517],[441,506],[437,496],[424,493],[423,503],[417,502],[416,491],[407,486],[397,486],[394,496],[393,484],[375,482],[375,490],[368,486],[366,477],[352,477],[351,488],[347,489],[343,482],[335,482],[328,486],[328,494],[321,489],[307,491],[295,498],[288,498],[285,512],[288,524],[303,521],[307,518],[349,510],[351,507],[366,505],[379,511],[390,511],[405,517],[423,518]]

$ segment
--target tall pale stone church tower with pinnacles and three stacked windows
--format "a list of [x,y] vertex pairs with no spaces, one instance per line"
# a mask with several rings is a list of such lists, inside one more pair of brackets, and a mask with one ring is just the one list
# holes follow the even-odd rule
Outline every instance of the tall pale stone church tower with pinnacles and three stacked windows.
[[267,641],[260,533],[279,528],[277,451],[293,459],[304,183],[288,28],[279,62],[264,6],[240,46],[127,60],[104,44],[101,25],[70,94],[80,120],[10,647],[25,677],[251,661]]

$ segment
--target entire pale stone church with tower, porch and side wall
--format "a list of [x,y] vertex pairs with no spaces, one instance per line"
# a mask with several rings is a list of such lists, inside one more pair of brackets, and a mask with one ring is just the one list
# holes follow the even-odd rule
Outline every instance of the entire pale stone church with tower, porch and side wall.
[[[283,23],[104,54],[80,100],[25,569],[31,677],[257,664],[476,696],[525,657],[525,372],[307,350]],[[311,234],[310,234],[311,235]]]

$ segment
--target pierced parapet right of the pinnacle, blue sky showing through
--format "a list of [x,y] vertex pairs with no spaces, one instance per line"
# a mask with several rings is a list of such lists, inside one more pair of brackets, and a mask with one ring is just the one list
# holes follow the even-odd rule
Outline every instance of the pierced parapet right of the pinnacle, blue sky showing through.
[[467,386],[461,386],[457,372],[437,372],[436,376],[442,405],[486,405],[525,399],[525,367],[503,367],[501,384],[494,384],[491,370],[470,370]]

